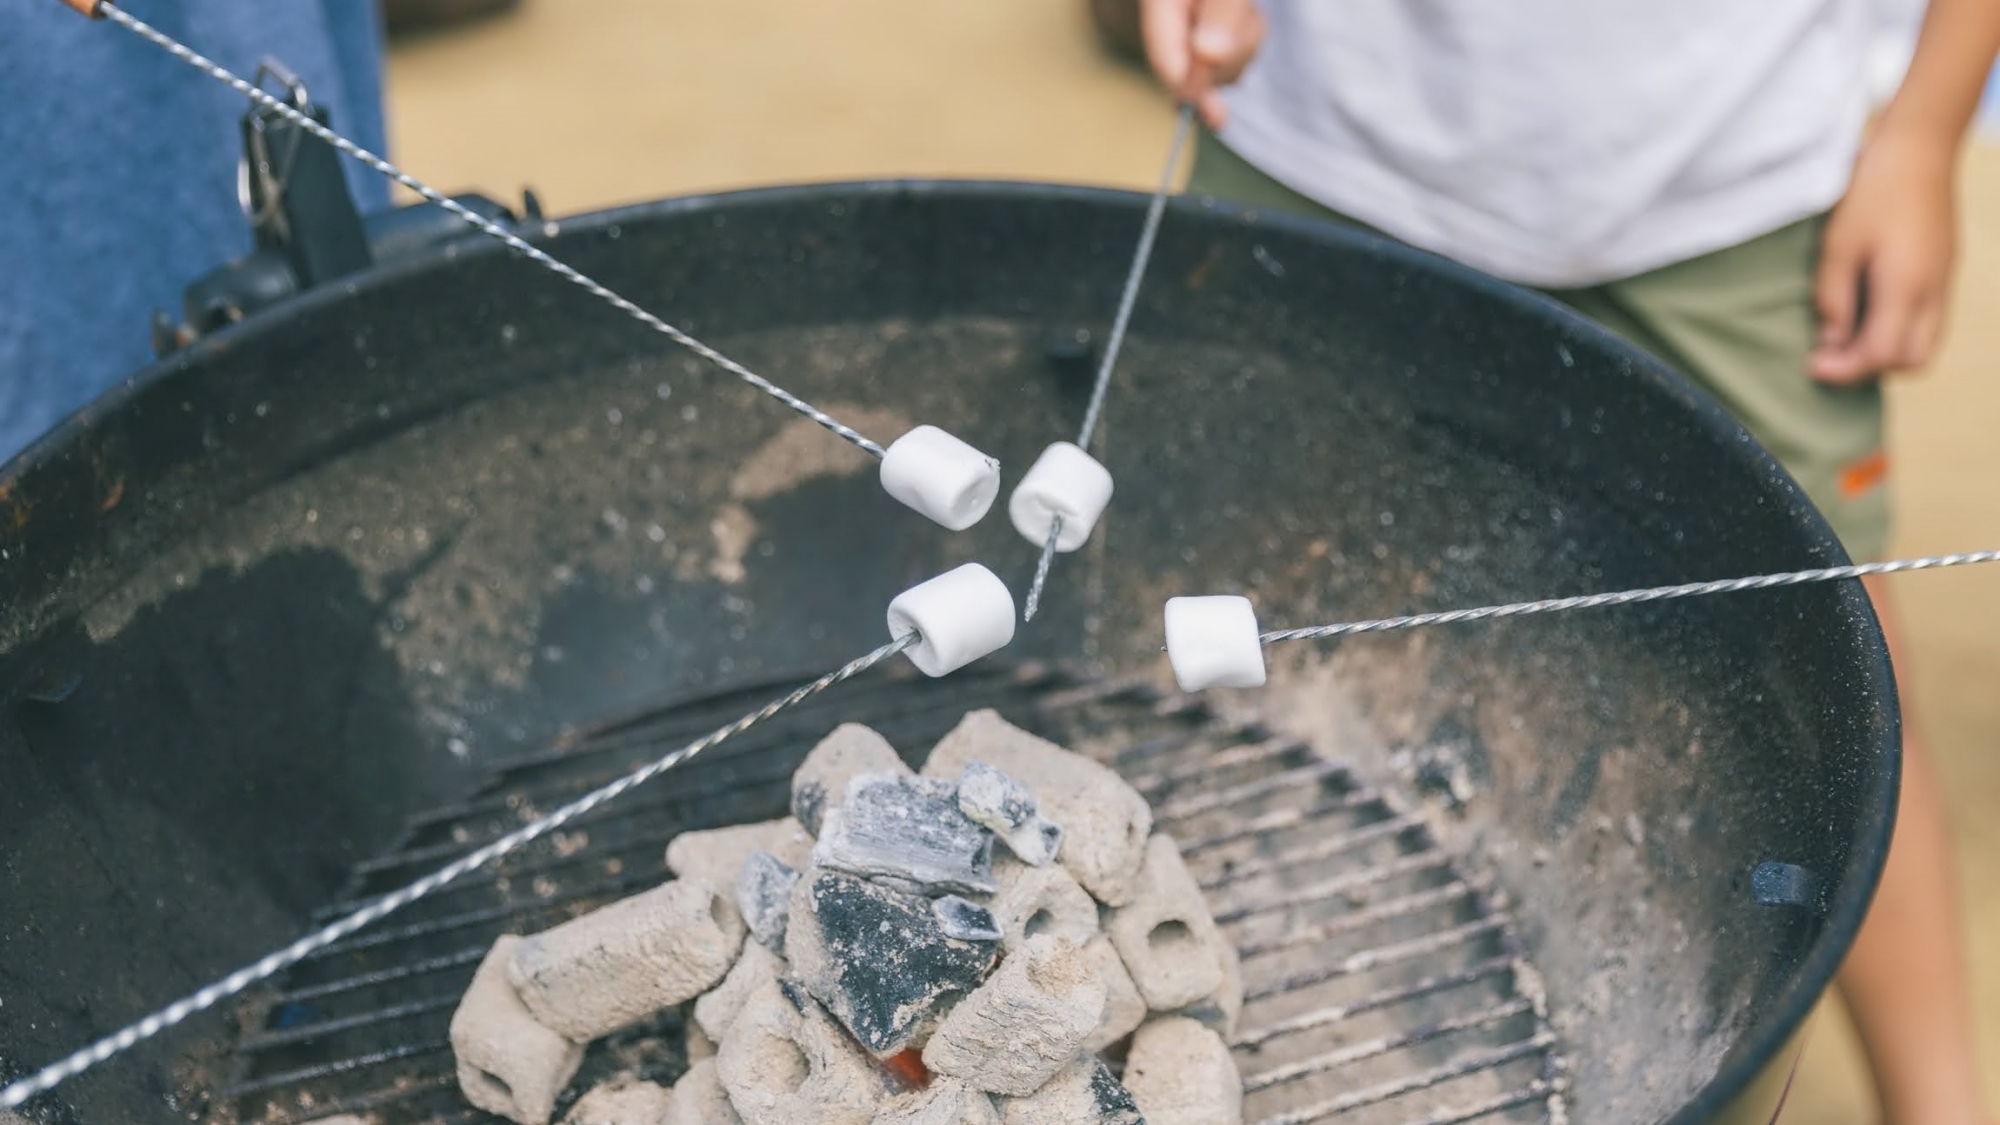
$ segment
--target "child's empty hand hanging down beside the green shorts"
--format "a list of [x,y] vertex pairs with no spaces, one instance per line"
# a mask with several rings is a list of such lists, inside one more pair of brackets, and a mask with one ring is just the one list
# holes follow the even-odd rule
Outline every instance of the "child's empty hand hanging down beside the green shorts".
[[1952,146],[1888,120],[1862,146],[1820,250],[1820,382],[1922,366],[1944,330],[1956,240]]

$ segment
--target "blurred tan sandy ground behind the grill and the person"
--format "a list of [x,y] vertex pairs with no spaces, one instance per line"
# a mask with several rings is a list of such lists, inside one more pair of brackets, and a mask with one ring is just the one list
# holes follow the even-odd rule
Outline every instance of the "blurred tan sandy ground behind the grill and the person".
[[[1000,176],[1150,186],[1172,110],[1094,46],[1080,0],[526,0],[408,40],[394,152],[446,188],[534,186],[556,212],[750,184]],[[1894,384],[1900,552],[2000,544],[2000,148],[1966,162],[1956,314],[1936,366]],[[1982,312],[1986,312],[1982,316]],[[2000,573],[1900,581],[1906,703],[1960,841],[1982,1059],[2000,1105]],[[1982,815],[1984,813],[1984,815]],[[1874,1121],[1836,1005],[1786,1119]]]

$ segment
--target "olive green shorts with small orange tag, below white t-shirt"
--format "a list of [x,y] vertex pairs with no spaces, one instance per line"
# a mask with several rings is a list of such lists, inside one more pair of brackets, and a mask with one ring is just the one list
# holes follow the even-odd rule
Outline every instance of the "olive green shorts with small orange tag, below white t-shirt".
[[[1202,132],[1188,192],[1336,222]],[[1544,290],[1638,344],[1712,394],[1812,496],[1856,560],[1888,544],[1882,388],[1806,376],[1816,336],[1812,278],[1824,218],[1740,246],[1588,288]]]

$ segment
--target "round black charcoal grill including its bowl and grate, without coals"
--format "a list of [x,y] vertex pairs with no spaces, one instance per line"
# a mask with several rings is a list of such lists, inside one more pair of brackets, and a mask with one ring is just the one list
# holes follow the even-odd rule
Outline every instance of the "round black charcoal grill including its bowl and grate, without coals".
[[[1078,416],[1140,210],[858,184],[538,238],[842,416],[1018,468]],[[880,645],[914,581],[1026,581],[1002,520],[938,532],[564,288],[446,246],[196,340],[0,472],[0,1073]],[[1798,488],[1540,298],[1198,200],[1120,372],[1118,502],[1014,663],[840,685],[34,1119],[474,1119],[442,1029],[492,935],[776,815],[838,721],[920,755],[972,707],[1116,765],[1184,843],[1246,959],[1248,1121],[1710,1119],[1826,987],[1886,847],[1896,711],[1856,589],[1294,647],[1212,701],[1152,687],[1158,611],[1842,560]],[[668,1019],[586,1075],[678,1067]]]

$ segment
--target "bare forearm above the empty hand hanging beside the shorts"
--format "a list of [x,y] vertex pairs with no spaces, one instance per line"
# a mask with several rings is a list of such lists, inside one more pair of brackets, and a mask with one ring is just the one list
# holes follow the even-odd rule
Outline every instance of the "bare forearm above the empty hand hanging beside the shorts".
[[1956,152],[2000,52],[2000,0],[1930,0],[1910,72],[1882,128]]

